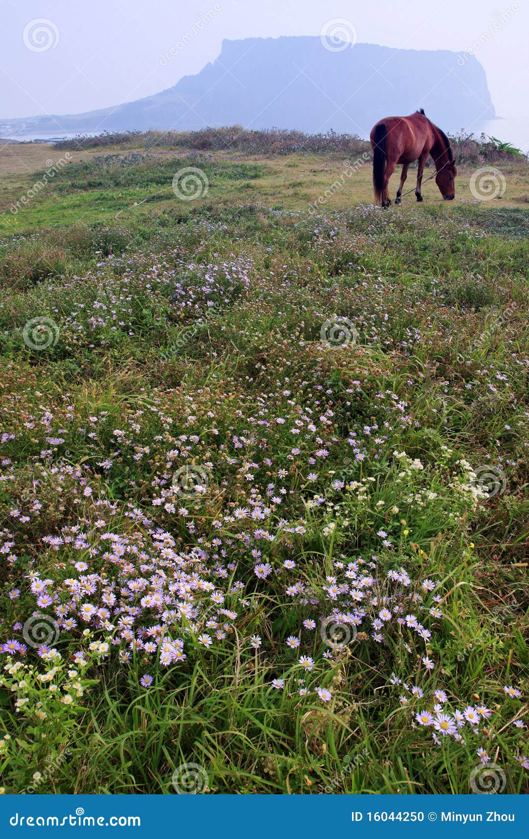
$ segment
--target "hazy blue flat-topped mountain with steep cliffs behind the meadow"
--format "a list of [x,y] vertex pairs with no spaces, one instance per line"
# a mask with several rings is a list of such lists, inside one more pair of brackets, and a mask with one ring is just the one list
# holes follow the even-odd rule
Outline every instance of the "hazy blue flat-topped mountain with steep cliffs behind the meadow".
[[[238,123],[366,135],[381,117],[418,107],[445,131],[495,117],[475,56],[375,44],[333,52],[319,37],[284,37],[225,40],[213,64],[166,91],[117,109],[55,119],[69,131]],[[28,130],[44,131],[45,122],[39,117]],[[59,133],[57,122],[49,130]]]

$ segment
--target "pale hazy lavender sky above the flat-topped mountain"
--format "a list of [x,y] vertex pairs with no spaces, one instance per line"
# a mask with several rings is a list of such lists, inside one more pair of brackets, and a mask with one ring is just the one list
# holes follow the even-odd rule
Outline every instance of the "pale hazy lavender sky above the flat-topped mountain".
[[[529,0],[0,0],[0,13],[0,119],[148,96],[215,60],[225,38],[319,35],[334,18],[361,43],[473,50],[496,112],[529,117]],[[44,40],[29,25],[41,19]]]

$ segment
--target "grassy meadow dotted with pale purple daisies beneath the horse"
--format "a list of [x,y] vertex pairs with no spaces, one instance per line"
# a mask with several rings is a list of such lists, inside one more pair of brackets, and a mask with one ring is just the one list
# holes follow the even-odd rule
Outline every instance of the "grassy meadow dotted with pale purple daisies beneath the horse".
[[526,159],[111,141],[0,149],[3,791],[527,793]]

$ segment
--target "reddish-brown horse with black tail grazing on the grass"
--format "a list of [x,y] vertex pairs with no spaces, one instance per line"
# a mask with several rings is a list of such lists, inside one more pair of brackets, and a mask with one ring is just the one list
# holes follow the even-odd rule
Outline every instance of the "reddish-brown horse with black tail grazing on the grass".
[[390,206],[387,185],[395,166],[402,163],[401,183],[397,191],[396,204],[401,203],[402,186],[407,176],[407,168],[418,160],[417,201],[423,201],[421,184],[424,164],[428,154],[432,155],[437,175],[435,183],[441,190],[445,201],[452,201],[455,195],[454,179],[458,174],[449,138],[428,117],[423,108],[409,117],[386,117],[376,122],[371,130],[371,148],[373,149],[373,186],[375,199],[383,207]]

